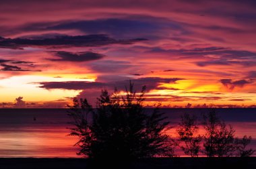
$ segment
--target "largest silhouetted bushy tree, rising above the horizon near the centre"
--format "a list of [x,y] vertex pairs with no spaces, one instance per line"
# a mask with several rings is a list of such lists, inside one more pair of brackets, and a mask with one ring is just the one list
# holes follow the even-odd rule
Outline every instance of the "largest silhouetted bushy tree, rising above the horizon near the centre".
[[[168,135],[164,134],[168,122],[163,113],[154,109],[146,113],[143,107],[146,87],[140,94],[130,82],[126,95],[113,95],[103,90],[96,109],[86,99],[73,99],[69,115],[73,117],[70,135],[77,135],[79,155],[94,159],[137,159],[168,156],[171,148]],[[157,108],[159,105],[157,106]]]

